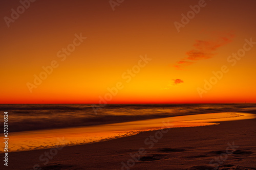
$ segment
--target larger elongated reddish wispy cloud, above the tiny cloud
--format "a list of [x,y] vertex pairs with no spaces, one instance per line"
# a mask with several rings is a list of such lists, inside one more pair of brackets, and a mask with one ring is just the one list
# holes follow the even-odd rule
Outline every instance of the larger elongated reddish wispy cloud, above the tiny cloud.
[[234,37],[233,33],[226,33],[222,36],[219,36],[216,40],[196,40],[194,43],[194,48],[186,52],[188,57],[181,59],[178,61],[176,65],[174,65],[175,69],[184,70],[184,67],[193,64],[196,60],[206,60],[217,55],[216,50],[231,42]]

